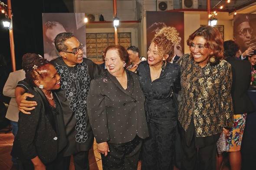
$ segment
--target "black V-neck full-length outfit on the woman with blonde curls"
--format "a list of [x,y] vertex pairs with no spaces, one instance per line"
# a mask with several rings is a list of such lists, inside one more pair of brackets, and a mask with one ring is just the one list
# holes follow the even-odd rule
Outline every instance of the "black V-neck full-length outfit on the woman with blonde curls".
[[173,91],[180,85],[180,66],[162,66],[159,79],[151,81],[147,61],[138,66],[139,81],[145,95],[145,111],[150,137],[142,145],[142,170],[170,170],[173,168],[177,106]]

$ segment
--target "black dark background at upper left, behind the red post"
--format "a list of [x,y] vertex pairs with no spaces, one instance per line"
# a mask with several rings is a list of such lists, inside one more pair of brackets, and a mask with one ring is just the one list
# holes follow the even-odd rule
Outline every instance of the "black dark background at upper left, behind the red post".
[[[7,0],[1,0],[7,4]],[[13,13],[13,38],[16,69],[21,69],[23,54],[43,55],[42,13],[73,13],[73,0],[11,0]],[[0,19],[4,15],[0,13]],[[3,97],[3,86],[12,72],[10,37],[8,29],[0,23],[0,101],[9,102]]]

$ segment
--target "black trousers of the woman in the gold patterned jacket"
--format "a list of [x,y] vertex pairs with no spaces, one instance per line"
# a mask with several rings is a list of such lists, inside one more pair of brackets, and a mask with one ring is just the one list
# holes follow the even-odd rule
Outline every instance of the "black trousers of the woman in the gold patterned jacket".
[[193,119],[191,120],[187,132],[184,131],[181,125],[180,132],[180,170],[216,170],[216,143],[220,134],[200,138],[195,137]]

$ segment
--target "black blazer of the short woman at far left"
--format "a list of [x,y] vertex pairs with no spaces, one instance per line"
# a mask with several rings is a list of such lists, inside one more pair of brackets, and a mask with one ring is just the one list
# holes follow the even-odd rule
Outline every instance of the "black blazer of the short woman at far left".
[[[54,161],[58,153],[59,139],[56,134],[56,123],[43,91],[34,88],[28,93],[33,94],[34,97],[27,100],[36,101],[37,106],[30,111],[31,114],[19,113],[19,128],[13,142],[12,155],[25,162],[38,156],[43,164],[47,164]],[[55,93],[54,96],[56,102],[60,104]]]

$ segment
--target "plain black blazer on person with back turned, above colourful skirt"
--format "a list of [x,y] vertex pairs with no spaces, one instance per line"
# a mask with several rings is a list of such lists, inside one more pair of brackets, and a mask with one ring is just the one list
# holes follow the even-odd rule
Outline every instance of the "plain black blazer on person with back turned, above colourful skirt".
[[231,64],[232,69],[231,95],[234,114],[252,112],[254,106],[247,94],[251,82],[251,66],[249,61],[237,60],[235,57],[229,57],[226,61]]

